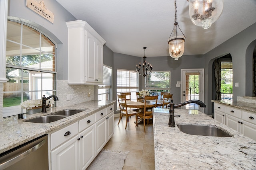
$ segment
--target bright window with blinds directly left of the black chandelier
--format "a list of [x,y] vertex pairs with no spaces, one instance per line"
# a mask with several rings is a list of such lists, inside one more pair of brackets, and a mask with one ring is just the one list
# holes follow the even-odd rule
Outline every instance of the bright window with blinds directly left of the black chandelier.
[[136,100],[136,92],[139,90],[138,73],[132,70],[117,69],[116,74],[116,92],[131,92],[131,100]]

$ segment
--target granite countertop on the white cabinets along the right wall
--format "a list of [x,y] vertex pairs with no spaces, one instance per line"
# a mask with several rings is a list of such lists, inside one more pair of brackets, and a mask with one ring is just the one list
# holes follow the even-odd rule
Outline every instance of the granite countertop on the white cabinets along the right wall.
[[254,103],[240,102],[240,101],[228,101],[228,100],[212,100],[211,102],[218,103],[218,104],[224,104],[226,106],[235,107],[238,109],[256,113],[256,104],[254,104]]

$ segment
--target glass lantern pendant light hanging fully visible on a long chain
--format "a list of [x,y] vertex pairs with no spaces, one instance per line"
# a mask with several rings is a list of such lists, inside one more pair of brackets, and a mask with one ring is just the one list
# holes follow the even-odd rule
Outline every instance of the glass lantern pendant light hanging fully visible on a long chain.
[[[174,36],[172,36],[172,33],[168,39],[169,43],[169,54],[174,60],[178,60],[184,53],[184,42],[185,42],[185,35],[181,31],[178,22],[177,22],[177,6],[176,6],[176,0],[174,0],[175,3],[175,22],[174,22],[174,27],[172,29],[172,33],[174,33]],[[177,26],[180,29],[182,35],[177,36]],[[175,31],[174,31],[175,29]],[[172,36],[172,37],[171,37]]]

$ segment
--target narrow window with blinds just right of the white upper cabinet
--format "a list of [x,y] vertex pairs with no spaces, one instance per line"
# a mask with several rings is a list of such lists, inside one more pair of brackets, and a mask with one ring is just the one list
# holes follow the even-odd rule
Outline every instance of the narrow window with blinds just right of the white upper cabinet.
[[112,84],[112,68],[103,65],[103,85],[99,85],[98,100],[109,100],[109,90]]

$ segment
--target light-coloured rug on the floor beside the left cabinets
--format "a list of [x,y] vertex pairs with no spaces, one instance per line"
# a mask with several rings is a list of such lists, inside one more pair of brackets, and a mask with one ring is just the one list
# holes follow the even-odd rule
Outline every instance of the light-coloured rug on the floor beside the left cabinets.
[[86,170],[122,170],[128,152],[101,150]]

